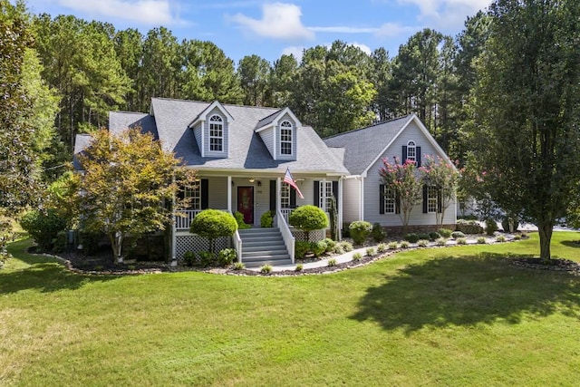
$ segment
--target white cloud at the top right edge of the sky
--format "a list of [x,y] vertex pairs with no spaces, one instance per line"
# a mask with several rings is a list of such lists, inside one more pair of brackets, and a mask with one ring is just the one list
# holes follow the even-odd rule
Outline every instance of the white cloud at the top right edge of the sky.
[[467,16],[489,6],[490,0],[399,0],[402,5],[416,5],[419,19],[440,29],[460,28]]

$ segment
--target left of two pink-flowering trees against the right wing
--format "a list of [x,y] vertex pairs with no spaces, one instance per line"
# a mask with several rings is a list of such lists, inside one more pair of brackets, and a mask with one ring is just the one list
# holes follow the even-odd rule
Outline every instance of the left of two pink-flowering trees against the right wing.
[[399,200],[401,211],[399,218],[405,232],[411,218],[411,210],[420,203],[422,198],[422,183],[419,179],[419,169],[414,161],[406,160],[403,164],[395,159],[394,164],[389,160],[382,159],[383,166],[379,169],[381,181],[385,187],[394,191],[395,198]]

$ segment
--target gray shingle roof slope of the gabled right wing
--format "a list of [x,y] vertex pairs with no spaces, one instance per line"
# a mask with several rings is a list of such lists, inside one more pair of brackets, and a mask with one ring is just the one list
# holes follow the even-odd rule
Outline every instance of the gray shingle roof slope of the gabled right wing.
[[329,147],[343,148],[343,163],[353,175],[360,175],[382,153],[413,115],[384,121],[366,128],[345,131],[324,139]]

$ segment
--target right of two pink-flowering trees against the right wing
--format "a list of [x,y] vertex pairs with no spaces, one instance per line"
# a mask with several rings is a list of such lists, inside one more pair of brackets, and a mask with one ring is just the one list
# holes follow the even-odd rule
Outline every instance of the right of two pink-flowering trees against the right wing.
[[449,208],[455,198],[460,172],[449,160],[442,159],[440,156],[434,158],[426,155],[425,159],[419,169],[421,180],[424,185],[437,189],[440,211],[435,213],[435,219],[437,225],[442,226],[445,210]]

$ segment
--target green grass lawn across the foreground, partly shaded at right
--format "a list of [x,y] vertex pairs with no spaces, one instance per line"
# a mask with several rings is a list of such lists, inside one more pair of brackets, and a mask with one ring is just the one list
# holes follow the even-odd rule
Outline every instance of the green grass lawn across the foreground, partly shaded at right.
[[[578,260],[577,233],[553,254]],[[325,276],[81,276],[10,248],[0,385],[577,385],[580,278],[517,243]]]

